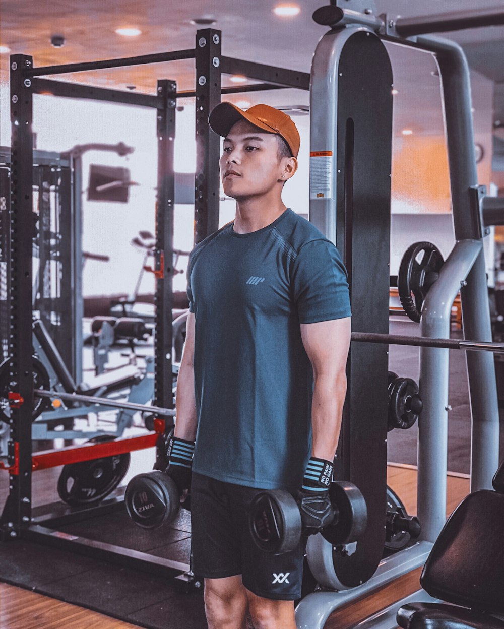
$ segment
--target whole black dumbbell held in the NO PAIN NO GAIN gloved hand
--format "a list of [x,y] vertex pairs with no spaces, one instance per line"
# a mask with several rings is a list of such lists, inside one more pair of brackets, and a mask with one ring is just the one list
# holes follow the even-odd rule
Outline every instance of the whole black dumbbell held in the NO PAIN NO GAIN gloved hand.
[[[333,481],[329,487],[334,518],[322,530],[323,537],[338,546],[356,542],[367,526],[367,506],[361,491],[351,482]],[[252,499],[249,511],[252,539],[263,552],[283,554],[300,543],[303,527],[298,503],[288,491],[264,491]]]

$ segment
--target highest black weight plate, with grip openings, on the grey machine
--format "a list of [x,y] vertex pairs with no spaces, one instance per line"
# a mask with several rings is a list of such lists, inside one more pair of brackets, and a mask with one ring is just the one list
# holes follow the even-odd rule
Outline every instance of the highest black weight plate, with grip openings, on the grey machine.
[[[423,253],[422,253],[423,252]],[[422,255],[421,259],[418,257]],[[416,242],[408,247],[397,276],[397,288],[401,306],[412,321],[422,316],[423,301],[428,289],[439,277],[444,259],[435,245]]]

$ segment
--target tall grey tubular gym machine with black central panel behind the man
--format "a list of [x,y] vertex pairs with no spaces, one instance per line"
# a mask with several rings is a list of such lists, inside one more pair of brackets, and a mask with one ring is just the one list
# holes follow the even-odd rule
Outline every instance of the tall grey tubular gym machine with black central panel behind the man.
[[[296,607],[301,628],[320,629],[342,604],[423,565],[445,522],[447,474],[447,347],[451,304],[461,291],[464,337],[490,348],[490,312],[483,258],[484,188],[474,159],[469,69],[461,48],[424,33],[503,23],[504,12],[476,11],[434,18],[377,16],[373,3],[347,0],[317,9],[330,31],[318,43],[311,69],[310,220],[336,243],[349,272],[353,340],[340,455],[335,476],[354,482],[366,498],[368,528],[357,545],[308,540],[311,570],[334,591],[308,594]],[[431,52],[439,67],[456,245],[425,291],[421,310],[418,443],[418,542],[384,557],[386,494],[386,379],[388,352],[389,211],[393,76],[383,42]],[[356,78],[358,77],[358,79]],[[366,252],[366,255],[362,255]],[[369,269],[373,269],[372,276]],[[403,338],[396,337],[399,343]],[[444,342],[443,342],[444,340]],[[495,348],[498,349],[498,348]],[[471,487],[489,488],[498,467],[499,416],[493,356],[468,352],[473,417]],[[373,374],[370,380],[369,373]],[[365,387],[365,391],[363,389]],[[372,473],[369,474],[369,470]],[[416,593],[408,601],[426,600]],[[428,600],[428,598],[427,598]],[[433,599],[430,599],[431,601]],[[359,623],[395,626],[400,603]]]

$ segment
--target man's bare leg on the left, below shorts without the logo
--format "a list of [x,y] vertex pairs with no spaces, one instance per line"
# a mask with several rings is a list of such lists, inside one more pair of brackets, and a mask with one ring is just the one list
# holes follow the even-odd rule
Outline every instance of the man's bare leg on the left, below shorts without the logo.
[[208,629],[245,629],[248,602],[241,575],[204,580]]

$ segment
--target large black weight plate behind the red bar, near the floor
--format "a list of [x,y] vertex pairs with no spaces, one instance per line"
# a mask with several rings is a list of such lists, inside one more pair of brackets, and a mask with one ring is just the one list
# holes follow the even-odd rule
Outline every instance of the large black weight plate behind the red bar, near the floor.
[[[99,435],[90,441],[111,439],[109,435]],[[70,506],[98,503],[114,491],[129,466],[129,452],[64,465],[57,485],[59,497]]]

